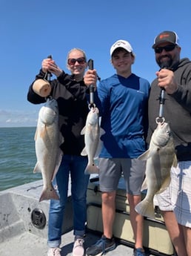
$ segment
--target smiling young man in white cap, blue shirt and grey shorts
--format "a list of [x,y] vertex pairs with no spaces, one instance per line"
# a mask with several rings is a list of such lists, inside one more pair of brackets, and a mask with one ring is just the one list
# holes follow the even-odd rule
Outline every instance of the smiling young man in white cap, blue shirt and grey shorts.
[[[135,54],[129,42],[115,42],[110,48],[110,56],[116,73],[102,80],[97,88],[101,101],[101,127],[105,131],[101,137],[103,148],[99,155],[104,234],[86,252],[89,256],[95,256],[115,249],[115,194],[123,174],[135,237],[134,255],[143,256],[143,217],[135,212],[135,206],[141,201],[141,184],[145,174],[145,163],[137,160],[137,157],[146,149],[144,137],[147,134],[150,83],[132,73]],[[96,77],[96,70],[88,70],[84,82],[96,85]]]

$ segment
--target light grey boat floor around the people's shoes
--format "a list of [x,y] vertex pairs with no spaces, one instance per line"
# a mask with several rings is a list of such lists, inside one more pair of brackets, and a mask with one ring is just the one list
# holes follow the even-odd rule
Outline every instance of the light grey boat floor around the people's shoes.
[[[88,233],[85,239],[84,246],[90,246],[95,243],[98,236]],[[67,232],[62,236],[63,243],[61,243],[61,255],[72,256],[73,250],[73,232]],[[16,235],[12,238],[7,238],[3,243],[0,244],[0,255],[4,256],[47,256],[47,240],[45,238],[38,237],[35,234],[24,232]],[[115,250],[108,252],[108,256],[132,256],[133,249],[118,244]]]

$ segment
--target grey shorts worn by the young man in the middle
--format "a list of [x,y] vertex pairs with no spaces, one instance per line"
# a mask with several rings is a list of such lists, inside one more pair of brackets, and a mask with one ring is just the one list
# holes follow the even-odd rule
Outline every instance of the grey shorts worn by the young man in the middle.
[[99,186],[102,192],[115,191],[121,174],[128,194],[141,194],[145,174],[145,161],[129,158],[100,158]]

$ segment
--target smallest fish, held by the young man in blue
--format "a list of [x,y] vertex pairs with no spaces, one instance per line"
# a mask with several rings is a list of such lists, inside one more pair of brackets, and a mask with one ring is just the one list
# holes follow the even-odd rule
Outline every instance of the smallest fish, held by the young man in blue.
[[87,114],[86,124],[81,130],[81,135],[84,135],[85,147],[81,151],[81,156],[87,156],[88,163],[84,170],[84,174],[98,174],[99,168],[96,165],[96,159],[101,151],[102,142],[100,137],[105,131],[100,127],[98,108],[90,108]]

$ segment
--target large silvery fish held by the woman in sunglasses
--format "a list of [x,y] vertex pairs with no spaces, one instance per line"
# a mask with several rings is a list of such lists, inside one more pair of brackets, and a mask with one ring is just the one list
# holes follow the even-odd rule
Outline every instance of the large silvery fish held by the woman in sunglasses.
[[35,134],[36,165],[33,172],[41,172],[43,189],[39,202],[42,200],[58,200],[58,194],[52,181],[58,171],[63,155],[59,145],[64,141],[58,130],[58,103],[56,99],[47,102],[38,112],[38,122]]

